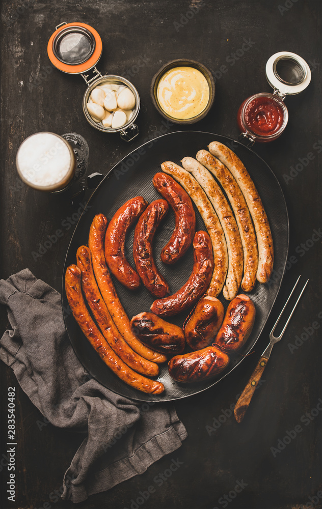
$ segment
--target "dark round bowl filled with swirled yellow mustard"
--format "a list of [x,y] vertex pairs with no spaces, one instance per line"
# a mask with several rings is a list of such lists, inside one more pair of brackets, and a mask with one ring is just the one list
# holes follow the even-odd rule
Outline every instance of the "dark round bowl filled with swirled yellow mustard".
[[208,113],[214,100],[211,72],[194,60],[172,60],[151,81],[150,94],[158,112],[175,124],[194,124]]

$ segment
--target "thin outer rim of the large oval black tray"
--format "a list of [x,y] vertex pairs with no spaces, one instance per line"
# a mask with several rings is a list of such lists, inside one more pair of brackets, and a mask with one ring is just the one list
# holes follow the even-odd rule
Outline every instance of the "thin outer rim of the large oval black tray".
[[[172,132],[168,132],[166,134],[162,134],[160,136],[156,136],[155,138],[152,138],[150,140],[148,140],[147,142],[143,143],[142,145],[140,145],[139,147],[136,147],[135,149],[131,150],[129,153],[127,153],[122,159],[120,159],[117,163],[115,163],[112,168],[110,168],[110,170],[108,171],[108,173],[106,173],[106,175],[104,176],[104,178],[101,180],[101,182],[95,187],[95,189],[93,190],[91,196],[89,197],[89,200],[87,202],[86,205],[88,205],[91,200],[93,199],[93,196],[94,194],[96,193],[97,189],[103,184],[103,182],[108,179],[110,176],[111,176],[111,173],[113,172],[114,168],[119,165],[120,163],[122,163],[122,161],[126,158],[129,157],[130,154],[132,154],[133,152],[136,152],[138,151],[139,149],[141,149],[142,147],[150,144],[151,142],[154,143],[156,140],[160,139],[160,138],[164,138],[166,136],[171,136],[173,134],[178,134],[178,133],[198,133],[198,134],[206,134],[206,135],[213,135],[213,136],[220,136],[220,137],[224,137],[228,140],[230,140],[230,142],[233,142],[234,144],[238,144],[238,146],[242,146],[244,149],[247,149],[251,154],[254,154],[256,157],[258,157],[263,163],[264,165],[269,169],[269,171],[272,173],[273,177],[275,178],[276,180],[276,183],[279,187],[279,190],[280,190],[280,193],[281,193],[281,196],[283,197],[283,204],[284,204],[284,208],[285,208],[285,212],[286,212],[286,227],[287,227],[287,244],[286,244],[286,253],[288,253],[288,248],[289,248],[289,215],[288,215],[288,210],[287,210],[287,205],[286,205],[286,201],[285,201],[285,196],[284,196],[284,193],[283,193],[283,190],[282,190],[282,187],[281,187],[281,184],[279,182],[279,180],[277,179],[275,173],[273,172],[272,168],[266,163],[266,161],[264,161],[264,159],[259,156],[256,152],[254,152],[250,147],[247,147],[246,145],[240,143],[239,141],[235,140],[234,138],[231,138],[230,136],[226,136],[224,134],[217,134],[217,133],[212,133],[212,132],[208,132],[208,131],[197,131],[197,130],[179,130],[179,131],[172,131]],[[67,257],[68,257],[68,253],[69,253],[69,249],[70,249],[70,246],[72,244],[72,241],[73,241],[73,238],[74,238],[74,235],[75,235],[75,232],[77,230],[77,227],[78,227],[78,223],[82,220],[82,217],[83,217],[83,214],[85,213],[85,209],[82,211],[82,214],[81,216],[79,217],[77,223],[75,224],[75,227],[74,227],[74,231],[73,231],[73,234],[70,238],[70,242],[68,244],[68,248],[66,250],[66,255],[65,255],[65,260],[64,260],[64,267],[63,267],[63,273],[62,273],[62,290],[61,290],[61,305],[62,305],[62,312],[63,312],[63,319],[64,319],[64,325],[65,325],[65,328],[66,328],[66,332],[67,332],[67,335],[68,335],[68,338],[69,338],[69,341],[72,345],[72,348],[74,350],[74,353],[77,357],[77,359],[79,360],[79,362],[81,362],[82,366],[84,367],[84,369],[86,371],[87,368],[84,366],[84,363],[83,361],[78,357],[77,355],[77,352],[75,351],[75,348],[74,348],[74,345],[73,345],[73,342],[70,338],[70,335],[69,335],[69,332],[68,332],[68,328],[67,328],[67,324],[66,324],[66,319],[65,319],[65,313],[64,313],[64,302],[63,302],[63,298],[64,298],[64,292],[65,292],[65,272],[66,272],[66,262],[67,262]],[[286,266],[286,262],[287,262],[287,256],[286,256],[286,259],[285,259],[285,262],[283,264],[283,275],[282,277],[280,278],[279,280],[279,284],[278,284],[278,288],[277,288],[277,291],[276,291],[276,295],[274,297],[274,300],[272,302],[272,305],[271,305],[271,309],[270,309],[270,312],[269,314],[267,315],[266,317],[266,320],[264,321],[260,331],[258,332],[258,335],[257,335],[257,338],[255,340],[255,342],[252,344],[252,346],[250,347],[251,348],[254,348],[256,343],[258,342],[260,336],[261,336],[261,333],[263,331],[263,328],[265,327],[266,323],[267,323],[267,320],[269,319],[271,313],[272,313],[272,310],[273,310],[273,307],[274,307],[274,304],[275,304],[275,301],[277,299],[277,296],[280,292],[280,289],[281,289],[281,285],[282,285],[282,281],[283,281],[283,278],[284,278],[284,274],[285,274],[285,266]],[[246,355],[248,354],[249,352],[246,353]],[[116,390],[112,389],[111,387],[106,387],[106,385],[102,384],[99,380],[97,380],[91,373],[91,377],[96,380],[99,384],[103,385],[104,387],[108,388],[109,390],[111,390],[112,392],[114,392],[115,394],[118,394],[118,395],[121,395],[121,397],[123,398],[128,398],[130,400],[133,400],[133,401],[137,401],[137,402],[146,402],[146,403],[167,403],[169,401],[177,401],[177,400],[182,400],[182,399],[185,399],[185,398],[190,398],[196,394],[199,394],[200,392],[203,392],[207,389],[210,389],[211,387],[213,387],[214,385],[216,385],[217,383],[221,382],[226,376],[228,376],[233,370],[236,369],[237,366],[239,366],[239,364],[244,360],[245,357],[241,357],[240,360],[238,360],[235,365],[233,367],[231,367],[231,369],[223,374],[223,376],[221,378],[218,378],[218,379],[214,379],[213,383],[211,383],[211,385],[207,386],[207,387],[203,387],[201,388],[200,390],[197,390],[196,392],[193,392],[193,393],[190,393],[190,394],[185,394],[185,395],[181,395],[180,397],[178,398],[169,398],[169,399],[162,399],[162,400],[157,400],[157,399],[147,399],[149,394],[146,394],[146,398],[145,399],[140,399],[140,391],[138,390],[137,392],[139,393],[138,394],[138,397],[133,397],[133,396],[124,396],[123,394],[120,394],[119,392],[117,392]],[[211,380],[209,380],[210,382]],[[125,383],[125,382],[124,382]],[[126,385],[126,384],[125,384]]]

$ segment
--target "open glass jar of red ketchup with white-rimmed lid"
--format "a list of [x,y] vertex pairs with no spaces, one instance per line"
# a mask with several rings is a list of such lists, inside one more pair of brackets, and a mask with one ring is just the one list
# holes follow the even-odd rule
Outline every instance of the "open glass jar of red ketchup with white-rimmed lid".
[[267,61],[266,78],[274,89],[273,94],[255,94],[245,99],[238,109],[239,140],[247,139],[249,146],[254,142],[272,142],[282,134],[288,121],[284,99],[308,86],[311,71],[301,56],[281,51]]

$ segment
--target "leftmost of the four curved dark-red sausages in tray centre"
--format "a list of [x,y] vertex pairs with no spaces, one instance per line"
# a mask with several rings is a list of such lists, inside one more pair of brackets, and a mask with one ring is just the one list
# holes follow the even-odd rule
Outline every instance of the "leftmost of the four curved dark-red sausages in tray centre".
[[105,234],[105,259],[112,274],[129,290],[141,284],[138,273],[125,258],[125,237],[148,203],[142,196],[131,198],[112,217]]

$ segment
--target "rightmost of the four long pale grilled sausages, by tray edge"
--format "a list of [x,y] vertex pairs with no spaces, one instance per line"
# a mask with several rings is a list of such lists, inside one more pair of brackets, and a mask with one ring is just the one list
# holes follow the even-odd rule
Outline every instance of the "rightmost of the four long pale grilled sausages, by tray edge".
[[256,278],[260,283],[266,283],[273,271],[274,247],[269,220],[255,184],[239,157],[226,145],[212,142],[209,145],[209,151],[227,166],[245,196],[257,236],[259,260]]

